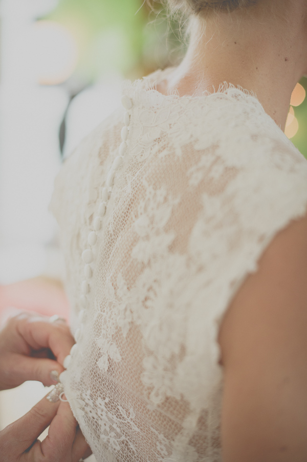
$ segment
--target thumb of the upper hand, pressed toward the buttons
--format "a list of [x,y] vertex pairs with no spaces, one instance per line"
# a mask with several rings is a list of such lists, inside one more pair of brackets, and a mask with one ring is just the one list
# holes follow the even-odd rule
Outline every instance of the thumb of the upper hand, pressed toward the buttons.
[[[28,356],[20,358],[14,366],[16,380],[19,379],[19,383],[23,383],[26,380],[38,380],[47,387],[57,383],[54,372],[60,374],[64,370],[63,367],[53,359],[32,358]],[[52,372],[53,374],[51,374]]]

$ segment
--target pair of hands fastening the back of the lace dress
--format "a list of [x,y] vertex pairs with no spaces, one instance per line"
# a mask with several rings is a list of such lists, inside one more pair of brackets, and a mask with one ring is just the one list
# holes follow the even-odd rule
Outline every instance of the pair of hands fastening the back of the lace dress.
[[[23,313],[11,318],[0,332],[0,389],[25,380],[52,385],[74,345],[62,320]],[[50,427],[49,427],[50,426]],[[38,436],[49,427],[43,441]],[[0,462],[77,462],[91,454],[68,403],[43,398],[25,416],[0,432]]]

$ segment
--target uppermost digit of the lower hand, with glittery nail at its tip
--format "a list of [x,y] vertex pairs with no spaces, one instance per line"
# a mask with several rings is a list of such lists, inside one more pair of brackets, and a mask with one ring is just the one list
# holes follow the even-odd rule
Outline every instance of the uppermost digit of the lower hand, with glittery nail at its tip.
[[[19,459],[56,416],[59,402],[50,403],[46,397],[39,401],[26,415],[16,420],[1,432],[5,441],[7,460]],[[1,445],[0,445],[1,446]]]

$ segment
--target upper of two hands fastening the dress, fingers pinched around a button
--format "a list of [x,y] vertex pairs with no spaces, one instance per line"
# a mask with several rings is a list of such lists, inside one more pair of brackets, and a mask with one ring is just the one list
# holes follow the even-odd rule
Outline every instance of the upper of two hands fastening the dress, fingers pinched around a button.
[[23,313],[9,320],[0,332],[0,390],[17,387],[25,380],[54,385],[52,371],[63,372],[63,360],[75,343],[62,320]]

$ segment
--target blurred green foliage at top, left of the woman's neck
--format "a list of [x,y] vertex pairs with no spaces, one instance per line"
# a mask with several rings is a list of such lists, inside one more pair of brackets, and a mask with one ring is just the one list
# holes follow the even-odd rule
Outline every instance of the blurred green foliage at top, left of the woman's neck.
[[[46,19],[73,34],[79,50],[75,75],[85,82],[112,70],[139,77],[168,64],[165,14],[156,17],[142,0],[60,0]],[[173,35],[168,41],[179,50]]]

